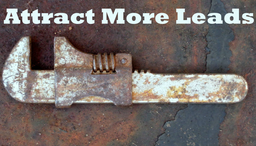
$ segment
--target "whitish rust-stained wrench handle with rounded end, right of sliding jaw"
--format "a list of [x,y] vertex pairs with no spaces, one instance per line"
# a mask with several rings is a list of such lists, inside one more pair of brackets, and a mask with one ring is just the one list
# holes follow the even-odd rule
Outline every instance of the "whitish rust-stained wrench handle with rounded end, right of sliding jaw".
[[133,75],[133,103],[234,103],[245,98],[247,83],[235,74]]

